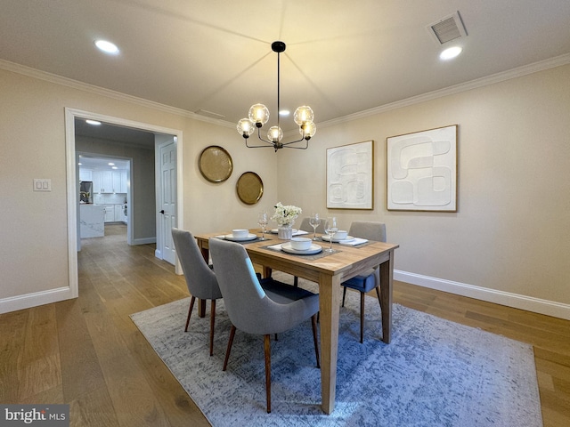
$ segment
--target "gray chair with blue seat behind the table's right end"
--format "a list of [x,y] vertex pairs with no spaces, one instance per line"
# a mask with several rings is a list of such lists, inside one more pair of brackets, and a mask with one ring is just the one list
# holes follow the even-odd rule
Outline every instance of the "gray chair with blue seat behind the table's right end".
[[[386,242],[386,224],[382,222],[354,221],[350,224],[348,231],[354,238],[366,238],[377,242]],[[360,342],[364,335],[364,295],[372,289],[376,289],[380,310],[382,301],[380,299],[380,272],[379,268],[365,271],[362,276],[355,276],[341,284],[344,286],[342,293],[342,306],[345,306],[346,288],[350,287],[360,292]]]

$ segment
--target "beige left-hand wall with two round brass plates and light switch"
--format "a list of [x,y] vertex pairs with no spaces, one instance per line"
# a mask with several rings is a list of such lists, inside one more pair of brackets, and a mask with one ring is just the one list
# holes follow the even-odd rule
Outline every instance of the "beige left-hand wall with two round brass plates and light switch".
[[[0,97],[0,214],[5,221],[0,230],[0,312],[67,294],[66,108],[181,131],[183,224],[189,230],[253,228],[257,211],[270,208],[277,197],[273,151],[246,149],[233,127],[4,69]],[[234,161],[232,176],[221,184],[204,180],[197,167],[200,151],[213,144],[228,149]],[[259,205],[244,205],[235,195],[235,183],[247,171],[265,182]],[[51,179],[52,191],[32,191],[34,178]]]

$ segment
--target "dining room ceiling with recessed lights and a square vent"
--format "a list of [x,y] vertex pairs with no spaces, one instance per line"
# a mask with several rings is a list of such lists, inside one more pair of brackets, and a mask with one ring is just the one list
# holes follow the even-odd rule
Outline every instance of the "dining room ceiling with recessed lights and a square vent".
[[[0,0],[0,59],[229,122],[256,102],[346,117],[570,52],[569,0]],[[443,62],[427,26],[459,11]],[[107,56],[97,38],[118,44]],[[272,117],[272,123],[274,120]],[[287,130],[282,120],[282,127]]]

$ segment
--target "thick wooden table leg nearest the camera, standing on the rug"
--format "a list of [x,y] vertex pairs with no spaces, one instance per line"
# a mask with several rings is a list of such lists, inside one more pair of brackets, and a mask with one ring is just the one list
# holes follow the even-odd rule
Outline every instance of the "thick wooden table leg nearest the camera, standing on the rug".
[[326,414],[331,414],[335,408],[340,290],[341,286],[338,276],[321,275],[319,280],[321,396],[322,410]]

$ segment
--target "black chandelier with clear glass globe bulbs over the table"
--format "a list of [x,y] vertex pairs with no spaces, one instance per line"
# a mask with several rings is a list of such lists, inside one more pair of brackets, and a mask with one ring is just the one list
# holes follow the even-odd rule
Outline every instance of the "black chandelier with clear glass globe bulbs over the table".
[[[280,53],[285,52],[285,44],[283,42],[273,42],[271,48],[273,52],[277,52],[277,125],[269,128],[267,132],[267,139],[261,136],[261,128],[269,121],[269,109],[264,104],[255,104],[249,109],[248,117],[242,118],[238,122],[238,133],[246,140],[246,146],[250,149],[260,149],[265,147],[272,147],[277,152],[278,149],[307,149],[309,147],[309,140],[317,131],[316,125],[313,123],[314,113],[311,107],[304,105],[295,110],[293,119],[299,126],[299,133],[301,139],[297,141],[281,142],[283,138],[283,131],[279,126],[279,112],[280,112]],[[264,141],[263,145],[248,145],[249,135],[255,132],[257,128],[257,137],[260,141]],[[291,146],[297,142],[305,140],[305,146]]]

